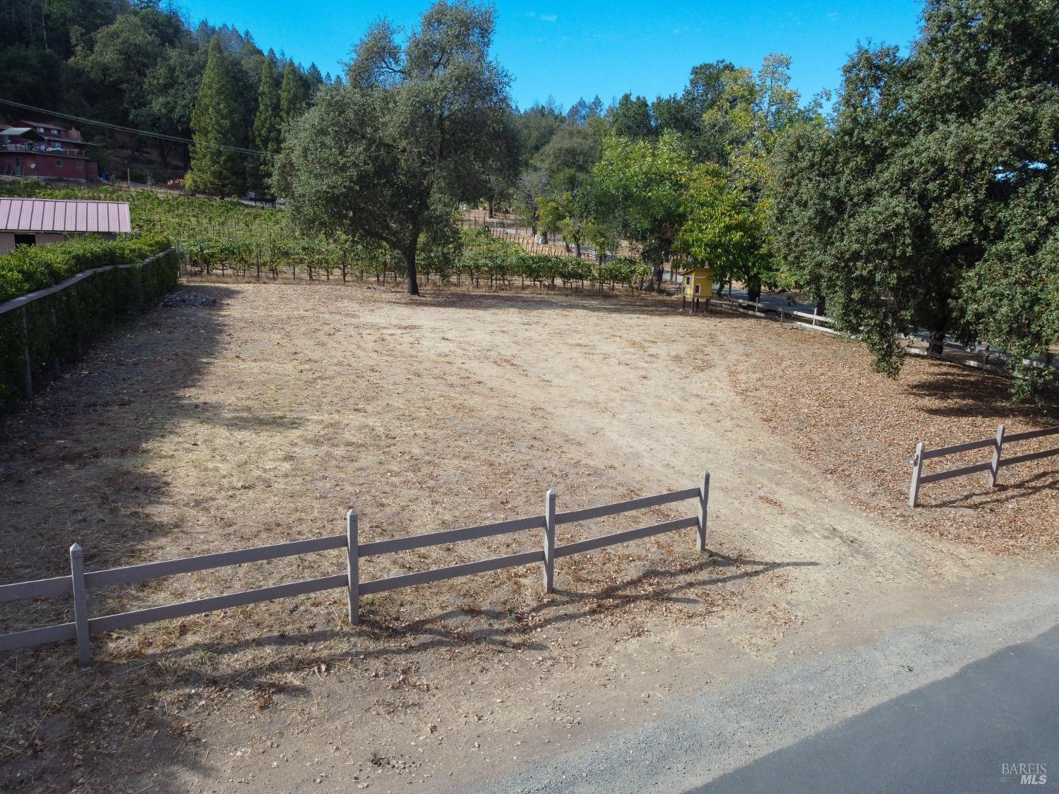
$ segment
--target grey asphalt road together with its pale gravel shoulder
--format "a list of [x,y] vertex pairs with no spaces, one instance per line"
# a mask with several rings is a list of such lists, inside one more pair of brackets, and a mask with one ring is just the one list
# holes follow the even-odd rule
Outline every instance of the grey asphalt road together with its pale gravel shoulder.
[[[649,722],[471,790],[1003,794],[1021,787],[1002,778],[1001,763],[1043,763],[1047,783],[1029,791],[1054,791],[1059,588],[1051,574],[1001,584],[940,621],[830,650],[809,643],[746,676],[718,678]],[[798,648],[793,632],[788,640]]]

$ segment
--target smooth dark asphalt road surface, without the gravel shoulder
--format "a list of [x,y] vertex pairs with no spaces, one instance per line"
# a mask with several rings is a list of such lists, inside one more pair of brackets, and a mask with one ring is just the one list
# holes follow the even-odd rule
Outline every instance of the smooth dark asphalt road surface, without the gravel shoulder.
[[693,791],[1010,792],[1017,764],[1059,790],[1059,626]]

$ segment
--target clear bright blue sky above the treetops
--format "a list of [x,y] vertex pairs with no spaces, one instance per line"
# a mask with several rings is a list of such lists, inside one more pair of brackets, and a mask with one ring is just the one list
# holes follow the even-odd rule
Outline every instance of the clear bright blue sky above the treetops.
[[[262,49],[338,73],[374,19],[385,14],[410,26],[427,4],[192,0],[183,7],[193,22],[249,29]],[[696,64],[725,58],[756,68],[772,52],[791,56],[794,87],[809,97],[838,87],[858,41],[907,48],[920,8],[914,0],[498,2],[493,52],[511,73],[511,96],[523,108],[549,95],[563,107],[595,94],[607,104],[626,91],[654,98],[680,91]]]

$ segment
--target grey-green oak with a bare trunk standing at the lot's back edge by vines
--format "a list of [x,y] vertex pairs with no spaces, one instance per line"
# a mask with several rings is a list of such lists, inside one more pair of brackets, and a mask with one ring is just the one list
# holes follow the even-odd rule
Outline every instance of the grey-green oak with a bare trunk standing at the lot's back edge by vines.
[[403,46],[382,21],[356,48],[347,86],[321,88],[286,129],[275,186],[299,227],[379,242],[418,291],[421,235],[486,193],[508,130],[507,75],[489,59],[493,12],[435,3]]

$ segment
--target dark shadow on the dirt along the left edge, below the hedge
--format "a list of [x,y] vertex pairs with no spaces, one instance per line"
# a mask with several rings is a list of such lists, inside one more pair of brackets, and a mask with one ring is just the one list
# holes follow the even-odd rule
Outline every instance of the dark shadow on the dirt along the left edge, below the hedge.
[[[221,305],[234,294],[223,286],[195,290]],[[176,425],[289,421],[218,414],[184,397],[225,337],[219,308],[160,307],[131,318],[67,363],[33,401],[0,416],[0,582],[69,574],[73,542],[84,545],[87,566],[101,567],[178,536],[182,527],[147,510],[167,484],[140,463]],[[71,600],[0,604],[0,631],[71,620]],[[93,777],[122,789],[149,756],[165,759],[157,768],[198,768],[179,752],[168,721],[141,708],[156,690],[150,670],[78,673],[75,658],[68,643],[0,654],[0,789],[69,791]]]

